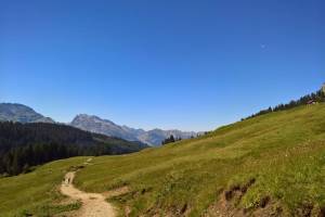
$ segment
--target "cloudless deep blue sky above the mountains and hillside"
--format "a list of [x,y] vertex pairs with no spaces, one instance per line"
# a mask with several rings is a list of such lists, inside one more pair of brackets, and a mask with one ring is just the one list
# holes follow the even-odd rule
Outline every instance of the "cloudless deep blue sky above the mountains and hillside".
[[323,0],[0,0],[0,102],[209,130],[325,81]]

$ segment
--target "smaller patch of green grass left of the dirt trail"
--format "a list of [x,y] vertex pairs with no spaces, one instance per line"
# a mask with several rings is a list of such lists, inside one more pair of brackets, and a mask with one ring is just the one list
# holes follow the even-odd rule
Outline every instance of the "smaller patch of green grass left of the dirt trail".
[[13,217],[34,214],[52,216],[56,213],[78,208],[78,204],[58,203],[64,199],[57,187],[70,166],[88,157],[73,157],[49,163],[35,171],[0,179],[0,216]]

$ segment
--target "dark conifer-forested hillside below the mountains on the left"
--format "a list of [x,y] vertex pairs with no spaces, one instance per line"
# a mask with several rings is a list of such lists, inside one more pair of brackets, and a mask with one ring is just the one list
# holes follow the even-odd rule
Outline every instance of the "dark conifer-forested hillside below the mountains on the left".
[[31,166],[81,155],[122,154],[146,145],[56,124],[0,123],[0,174],[18,175]]

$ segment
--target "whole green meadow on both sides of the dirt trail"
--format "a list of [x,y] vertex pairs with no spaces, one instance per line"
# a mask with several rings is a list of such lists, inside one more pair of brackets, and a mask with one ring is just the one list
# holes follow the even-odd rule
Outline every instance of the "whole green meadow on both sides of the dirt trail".
[[[57,187],[88,157],[46,164],[0,178],[0,216],[53,216]],[[109,199],[120,216],[213,216],[220,201],[245,215],[325,215],[325,104],[274,112],[206,136],[119,156],[94,157],[75,184],[89,192],[120,187]],[[262,216],[262,215],[260,215]]]

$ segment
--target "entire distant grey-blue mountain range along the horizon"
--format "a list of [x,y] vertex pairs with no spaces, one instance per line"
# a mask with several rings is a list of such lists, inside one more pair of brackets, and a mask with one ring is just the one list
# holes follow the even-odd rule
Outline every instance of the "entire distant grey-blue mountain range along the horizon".
[[[0,120],[2,122],[20,122],[20,123],[55,123],[50,117],[35,112],[31,107],[17,103],[0,103]],[[72,123],[67,123],[73,127],[106,135],[109,137],[121,138],[129,141],[141,141],[143,143],[156,146],[160,145],[161,141],[171,135],[176,138],[187,139],[197,136],[194,131],[181,130],[143,130],[128,126],[120,126],[112,120],[103,119],[94,115],[79,114]]]

